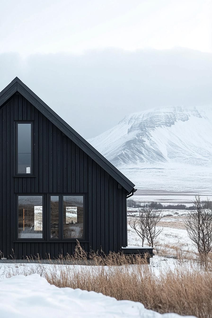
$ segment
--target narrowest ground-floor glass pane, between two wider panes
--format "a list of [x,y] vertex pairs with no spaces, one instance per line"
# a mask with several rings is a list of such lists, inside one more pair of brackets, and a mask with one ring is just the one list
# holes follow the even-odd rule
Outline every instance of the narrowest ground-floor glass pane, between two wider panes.
[[51,196],[51,239],[59,239],[59,197]]

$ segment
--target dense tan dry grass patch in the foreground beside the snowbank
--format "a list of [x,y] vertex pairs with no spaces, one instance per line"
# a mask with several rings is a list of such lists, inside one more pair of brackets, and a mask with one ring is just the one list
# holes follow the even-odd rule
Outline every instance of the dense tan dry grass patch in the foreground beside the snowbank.
[[159,313],[211,317],[212,274],[181,267],[159,276],[148,266],[63,268],[46,279],[58,287],[95,291],[118,300],[139,301]]

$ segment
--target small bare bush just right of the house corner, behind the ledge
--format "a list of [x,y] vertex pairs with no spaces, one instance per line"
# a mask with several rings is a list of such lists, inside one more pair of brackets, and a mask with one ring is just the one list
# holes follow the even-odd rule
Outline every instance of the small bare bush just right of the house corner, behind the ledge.
[[154,240],[163,231],[163,228],[156,229],[156,226],[158,222],[160,222],[161,218],[161,212],[157,212],[150,203],[147,203],[144,204],[142,208],[139,208],[138,218],[131,218],[129,220],[130,227],[135,230],[135,232],[142,239],[142,246],[146,238],[149,246],[153,247]]

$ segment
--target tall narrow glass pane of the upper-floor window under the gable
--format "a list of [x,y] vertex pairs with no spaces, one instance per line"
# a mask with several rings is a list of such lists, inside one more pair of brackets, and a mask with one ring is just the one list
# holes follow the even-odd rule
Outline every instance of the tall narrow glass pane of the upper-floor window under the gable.
[[17,123],[17,173],[32,173],[31,123]]

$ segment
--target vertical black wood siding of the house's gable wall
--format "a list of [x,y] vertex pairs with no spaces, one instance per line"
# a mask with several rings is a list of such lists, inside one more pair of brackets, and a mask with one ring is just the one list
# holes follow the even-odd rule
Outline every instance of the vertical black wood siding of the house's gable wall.
[[[34,177],[15,177],[15,122],[34,122]],[[0,109],[0,251],[4,257],[51,258],[72,254],[76,242],[44,242],[16,238],[16,194],[85,193],[85,241],[89,252],[118,252],[127,244],[126,191],[95,161],[66,137],[22,95]],[[44,229],[48,217],[44,205]]]

